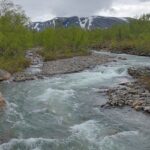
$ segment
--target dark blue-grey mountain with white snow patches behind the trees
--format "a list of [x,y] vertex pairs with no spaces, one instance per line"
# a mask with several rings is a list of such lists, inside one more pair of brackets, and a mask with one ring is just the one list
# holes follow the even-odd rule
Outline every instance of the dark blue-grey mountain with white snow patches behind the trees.
[[32,22],[29,27],[31,29],[42,31],[46,28],[57,28],[57,27],[81,27],[84,29],[95,29],[95,28],[109,28],[115,24],[128,23],[129,18],[116,18],[116,17],[102,17],[102,16],[91,16],[91,17],[57,17],[45,22]]

